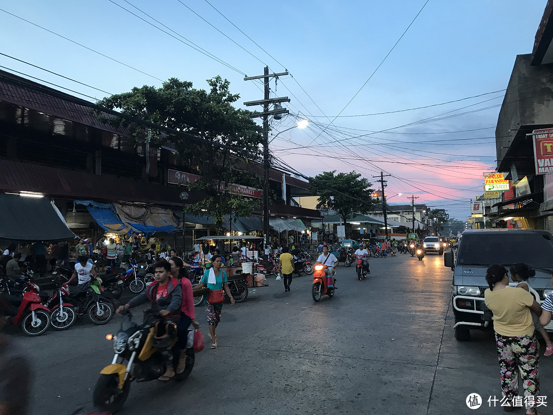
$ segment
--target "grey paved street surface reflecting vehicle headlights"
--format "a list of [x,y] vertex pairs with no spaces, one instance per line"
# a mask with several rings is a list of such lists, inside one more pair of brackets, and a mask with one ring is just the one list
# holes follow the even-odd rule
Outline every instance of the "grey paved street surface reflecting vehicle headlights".
[[[443,257],[372,258],[371,270],[358,281],[353,267],[338,267],[336,295],[320,303],[311,298],[310,276],[294,278],[289,293],[270,278],[270,287],[251,289],[245,303],[225,304],[215,350],[197,307],[207,348],[196,354],[190,377],[133,383],[120,413],[502,413],[487,403],[501,395],[493,334],[455,340]],[[34,359],[33,414],[92,409],[98,372],[113,357],[105,335],[119,323],[83,319],[38,338],[9,330]],[[541,395],[551,391],[552,369],[553,357],[542,357]],[[476,410],[465,403],[472,393],[484,400]],[[539,409],[553,413],[549,406],[553,396]]]

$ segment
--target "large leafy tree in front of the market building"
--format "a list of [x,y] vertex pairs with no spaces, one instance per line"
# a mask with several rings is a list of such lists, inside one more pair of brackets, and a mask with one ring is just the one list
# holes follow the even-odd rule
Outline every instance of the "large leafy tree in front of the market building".
[[[169,141],[177,150],[178,159],[200,175],[195,183],[183,183],[188,189],[201,190],[205,198],[186,206],[195,215],[213,216],[217,230],[226,214],[250,215],[259,201],[232,193],[230,185],[239,183],[259,187],[260,178],[247,169],[249,159],[261,158],[262,130],[249,118],[251,112],[234,108],[239,98],[229,91],[229,82],[220,76],[208,79],[209,91],[192,88],[192,82],[170,78],[160,88],[134,87],[131,92],[104,98],[99,105],[118,108],[127,115],[180,133],[153,132],[152,146]],[[112,125],[130,127],[137,141],[144,140],[144,126],[124,118],[107,118]]]

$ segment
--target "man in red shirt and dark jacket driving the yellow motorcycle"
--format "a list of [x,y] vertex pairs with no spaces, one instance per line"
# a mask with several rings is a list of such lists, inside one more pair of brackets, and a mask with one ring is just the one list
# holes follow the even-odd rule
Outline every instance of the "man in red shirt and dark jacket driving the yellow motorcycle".
[[[182,307],[181,285],[178,279],[171,277],[171,264],[168,261],[161,260],[156,262],[154,269],[155,281],[149,284],[145,291],[131,299],[127,304],[120,305],[116,312],[121,313],[123,310],[150,302],[152,310],[158,312],[161,317],[165,318],[165,322],[169,323],[167,325],[168,328],[170,328],[170,324],[174,325],[174,333],[172,335],[176,338],[176,325],[179,323]],[[158,379],[166,382],[175,376],[173,352],[171,351],[170,344],[159,346],[159,350],[164,357],[167,369]]]

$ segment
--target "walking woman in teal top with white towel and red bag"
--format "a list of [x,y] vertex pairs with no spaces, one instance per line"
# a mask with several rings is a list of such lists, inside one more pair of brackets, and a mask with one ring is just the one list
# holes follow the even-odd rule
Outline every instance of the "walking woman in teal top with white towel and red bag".
[[[223,307],[224,297],[222,291],[224,290],[227,293],[228,298],[231,299],[231,304],[234,305],[234,297],[232,297],[231,290],[228,288],[227,284],[227,273],[222,271],[221,266],[223,261],[221,257],[216,255],[211,258],[211,268],[206,269],[204,276],[202,277],[200,283],[195,287],[197,289],[207,287],[210,289],[210,295],[212,295],[213,303],[210,303],[209,296],[204,300],[206,314],[207,314],[207,323],[209,324],[209,331],[211,336],[211,349],[217,349],[217,335],[215,334],[215,329],[221,321],[221,310]],[[221,294],[220,299],[213,299],[217,294]]]

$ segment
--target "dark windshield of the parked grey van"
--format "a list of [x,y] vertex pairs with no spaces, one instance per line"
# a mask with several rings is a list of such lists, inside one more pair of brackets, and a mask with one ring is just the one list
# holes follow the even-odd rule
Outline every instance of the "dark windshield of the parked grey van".
[[553,268],[550,234],[494,232],[463,235],[458,248],[459,264],[514,264]]

